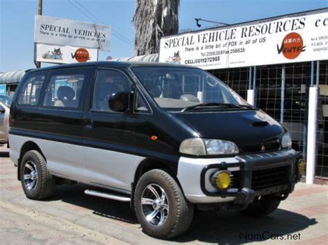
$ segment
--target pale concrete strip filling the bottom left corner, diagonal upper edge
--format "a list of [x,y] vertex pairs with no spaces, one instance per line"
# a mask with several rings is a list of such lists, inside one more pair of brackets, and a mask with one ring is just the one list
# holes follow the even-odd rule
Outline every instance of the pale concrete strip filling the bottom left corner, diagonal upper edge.
[[127,244],[44,212],[0,201],[1,244]]

